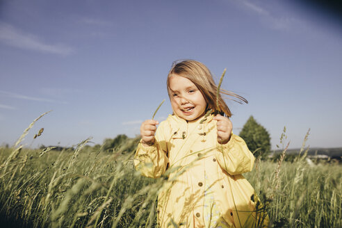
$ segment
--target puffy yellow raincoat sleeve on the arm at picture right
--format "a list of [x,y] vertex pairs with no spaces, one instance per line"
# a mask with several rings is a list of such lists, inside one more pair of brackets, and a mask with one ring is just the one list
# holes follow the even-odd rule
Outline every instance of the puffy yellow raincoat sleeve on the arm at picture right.
[[224,145],[216,142],[216,158],[221,168],[231,175],[250,172],[254,165],[254,156],[245,141],[231,133],[229,142]]

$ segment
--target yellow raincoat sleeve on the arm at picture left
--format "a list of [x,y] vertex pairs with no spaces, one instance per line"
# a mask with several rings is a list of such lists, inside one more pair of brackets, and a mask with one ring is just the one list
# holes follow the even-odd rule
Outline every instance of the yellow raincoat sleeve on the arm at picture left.
[[167,126],[161,122],[154,136],[154,145],[145,147],[140,141],[134,156],[134,166],[145,177],[161,177],[168,167],[168,145],[165,138]]

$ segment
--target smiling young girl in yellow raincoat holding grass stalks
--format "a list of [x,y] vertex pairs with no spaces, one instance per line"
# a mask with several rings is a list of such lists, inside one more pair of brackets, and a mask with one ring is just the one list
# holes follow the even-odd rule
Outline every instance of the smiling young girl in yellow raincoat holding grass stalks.
[[[217,106],[211,72],[195,60],[175,63],[167,87],[173,114],[158,128],[156,120],[142,123],[134,161],[146,177],[161,177],[172,169],[158,195],[158,225],[260,226],[266,216],[256,213],[254,190],[242,175],[252,170],[254,156],[231,133],[231,112],[221,96]],[[265,226],[266,220],[261,222]]]

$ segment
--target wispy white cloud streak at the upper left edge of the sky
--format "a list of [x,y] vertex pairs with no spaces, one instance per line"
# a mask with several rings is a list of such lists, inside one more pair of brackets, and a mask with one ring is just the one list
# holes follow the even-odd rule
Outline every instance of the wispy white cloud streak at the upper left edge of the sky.
[[21,49],[30,49],[49,54],[68,55],[74,52],[72,48],[63,44],[47,44],[42,42],[37,36],[24,33],[3,22],[0,22],[0,42]]

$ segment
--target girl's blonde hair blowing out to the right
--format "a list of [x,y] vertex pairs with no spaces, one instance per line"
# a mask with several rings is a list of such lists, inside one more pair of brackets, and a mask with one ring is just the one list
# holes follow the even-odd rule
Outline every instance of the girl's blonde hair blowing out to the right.
[[202,95],[206,100],[207,110],[212,109],[214,113],[225,113],[227,117],[231,117],[231,111],[220,94],[234,97],[236,99],[228,98],[241,104],[242,102],[245,102],[246,104],[248,103],[248,101],[240,95],[236,95],[234,92],[229,92],[228,90],[220,89],[220,94],[218,97],[219,105],[217,106],[216,97],[218,87],[213,81],[213,76],[206,65],[195,60],[175,61],[172,64],[171,70],[168,74],[168,79],[166,81],[170,99],[172,99],[172,91],[170,90],[170,77],[174,75],[183,76],[184,78],[192,81],[197,86],[199,91],[202,92]]

